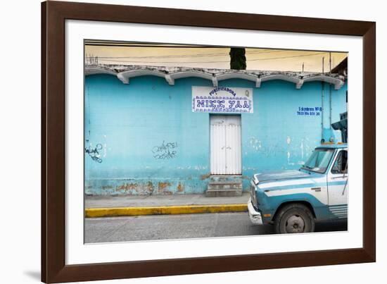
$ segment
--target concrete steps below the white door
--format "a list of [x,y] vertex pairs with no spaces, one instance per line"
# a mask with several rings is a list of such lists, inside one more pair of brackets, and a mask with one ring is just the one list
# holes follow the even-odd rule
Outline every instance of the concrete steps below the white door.
[[211,180],[208,183],[206,197],[233,197],[242,195],[242,180]]

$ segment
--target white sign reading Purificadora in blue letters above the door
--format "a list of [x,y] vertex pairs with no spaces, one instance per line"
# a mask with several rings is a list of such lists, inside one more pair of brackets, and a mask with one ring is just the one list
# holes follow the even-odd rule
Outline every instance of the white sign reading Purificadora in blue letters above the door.
[[192,86],[192,111],[253,113],[253,89]]

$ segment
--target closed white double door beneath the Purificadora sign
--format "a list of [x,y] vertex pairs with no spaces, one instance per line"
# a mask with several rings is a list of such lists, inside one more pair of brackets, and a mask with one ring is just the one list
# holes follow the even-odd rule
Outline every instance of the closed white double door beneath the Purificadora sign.
[[210,116],[212,175],[241,175],[241,116]]

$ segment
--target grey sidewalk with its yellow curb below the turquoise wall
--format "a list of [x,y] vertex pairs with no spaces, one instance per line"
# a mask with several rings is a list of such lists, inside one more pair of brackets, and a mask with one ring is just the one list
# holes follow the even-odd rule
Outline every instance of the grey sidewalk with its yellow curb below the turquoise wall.
[[131,195],[85,197],[87,218],[247,211],[249,192],[241,197],[205,195]]

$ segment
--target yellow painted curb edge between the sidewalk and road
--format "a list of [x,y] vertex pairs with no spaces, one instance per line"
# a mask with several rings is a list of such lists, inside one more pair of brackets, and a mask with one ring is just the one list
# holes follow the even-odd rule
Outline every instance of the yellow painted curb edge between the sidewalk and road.
[[87,218],[139,215],[198,214],[247,211],[247,204],[87,208]]

